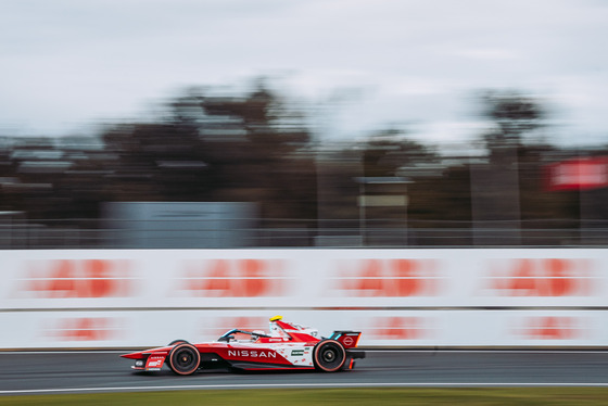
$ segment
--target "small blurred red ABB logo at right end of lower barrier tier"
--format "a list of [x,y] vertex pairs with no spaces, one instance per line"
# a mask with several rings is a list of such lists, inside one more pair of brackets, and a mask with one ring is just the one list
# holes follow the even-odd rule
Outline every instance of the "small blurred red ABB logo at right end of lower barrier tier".
[[577,340],[583,339],[586,328],[575,317],[529,317],[516,334],[528,340]]

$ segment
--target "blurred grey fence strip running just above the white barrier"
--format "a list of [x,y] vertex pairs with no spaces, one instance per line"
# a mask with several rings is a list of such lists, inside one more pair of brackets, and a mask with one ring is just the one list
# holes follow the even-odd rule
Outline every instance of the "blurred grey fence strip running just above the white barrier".
[[[166,227],[155,230],[153,223],[144,231],[110,229],[89,219],[0,223],[0,249],[157,249],[176,248],[179,243],[187,244],[179,248],[188,249],[608,246],[608,221],[586,221],[584,227],[567,220],[507,223],[502,227],[471,221],[411,221],[404,227],[389,220],[369,220],[365,228],[354,220],[267,223],[265,227],[232,229],[229,233],[208,226],[198,231],[191,223],[188,231]],[[135,232],[137,241],[132,238]],[[223,246],[231,234],[239,238],[230,240],[231,246]]]

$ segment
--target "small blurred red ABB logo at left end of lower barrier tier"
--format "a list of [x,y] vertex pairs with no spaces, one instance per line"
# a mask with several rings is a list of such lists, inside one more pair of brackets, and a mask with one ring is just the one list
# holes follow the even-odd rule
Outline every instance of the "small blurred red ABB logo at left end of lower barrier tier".
[[56,341],[110,341],[124,331],[121,320],[109,317],[78,317],[56,320],[45,329]]

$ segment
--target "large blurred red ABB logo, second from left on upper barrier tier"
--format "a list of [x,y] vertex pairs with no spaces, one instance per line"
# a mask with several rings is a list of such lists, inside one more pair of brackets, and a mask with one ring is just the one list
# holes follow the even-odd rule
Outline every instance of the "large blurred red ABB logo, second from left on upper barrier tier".
[[187,265],[180,287],[194,296],[259,297],[287,294],[282,262],[276,259],[213,259]]

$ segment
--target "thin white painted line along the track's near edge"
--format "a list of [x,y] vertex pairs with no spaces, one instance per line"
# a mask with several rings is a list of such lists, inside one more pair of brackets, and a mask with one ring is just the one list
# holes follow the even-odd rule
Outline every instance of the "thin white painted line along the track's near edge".
[[580,383],[580,382],[453,382],[453,383],[253,383],[253,384],[207,384],[207,385],[164,385],[164,386],[107,386],[107,388],[64,388],[64,389],[30,389],[0,391],[0,395],[40,394],[40,393],[78,393],[78,392],[152,392],[164,390],[211,390],[211,389],[290,389],[290,388],[517,388],[517,386],[575,386],[575,388],[608,388],[608,383]]

